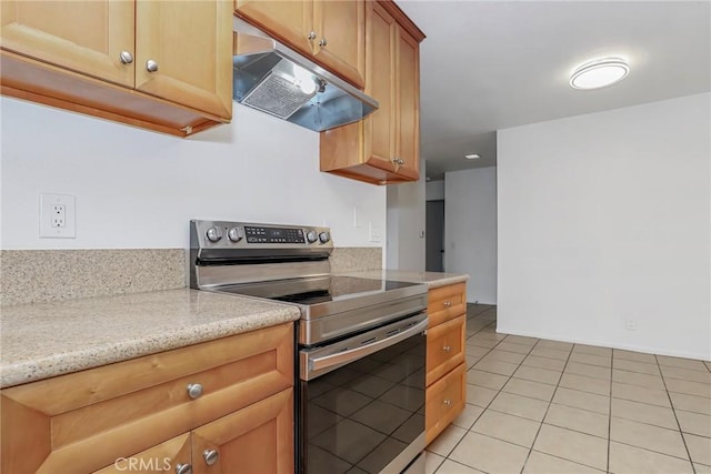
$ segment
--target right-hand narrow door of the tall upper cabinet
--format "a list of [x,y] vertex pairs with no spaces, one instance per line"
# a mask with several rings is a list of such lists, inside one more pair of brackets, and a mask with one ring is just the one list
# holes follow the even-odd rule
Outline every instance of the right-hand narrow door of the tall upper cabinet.
[[398,31],[395,157],[404,162],[398,173],[417,180],[420,175],[420,47],[402,28]]

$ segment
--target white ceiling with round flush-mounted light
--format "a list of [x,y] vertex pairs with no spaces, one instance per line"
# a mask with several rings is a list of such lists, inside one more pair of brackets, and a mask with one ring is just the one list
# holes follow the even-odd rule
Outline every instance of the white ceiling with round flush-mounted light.
[[[711,1],[399,0],[424,31],[421,154],[427,175],[495,164],[495,131],[711,90]],[[620,83],[569,84],[615,56]],[[479,153],[480,160],[465,160]]]

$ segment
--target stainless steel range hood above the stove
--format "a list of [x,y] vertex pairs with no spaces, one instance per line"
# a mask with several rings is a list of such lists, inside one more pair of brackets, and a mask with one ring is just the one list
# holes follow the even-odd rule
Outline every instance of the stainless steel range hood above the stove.
[[378,101],[234,18],[236,101],[321,132],[362,120]]

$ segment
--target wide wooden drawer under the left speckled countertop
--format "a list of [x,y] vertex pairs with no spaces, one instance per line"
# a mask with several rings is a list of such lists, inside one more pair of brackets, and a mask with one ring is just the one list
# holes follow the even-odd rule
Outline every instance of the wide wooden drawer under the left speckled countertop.
[[93,471],[292,385],[289,323],[10,387],[2,472]]

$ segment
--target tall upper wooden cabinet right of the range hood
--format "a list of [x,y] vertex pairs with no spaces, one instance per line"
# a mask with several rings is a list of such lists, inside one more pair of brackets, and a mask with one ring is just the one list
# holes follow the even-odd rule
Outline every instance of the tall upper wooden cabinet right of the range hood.
[[391,1],[368,1],[365,13],[365,93],[380,108],[321,133],[321,171],[377,184],[417,181],[424,34]]

